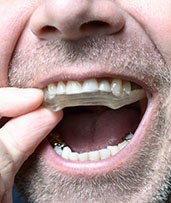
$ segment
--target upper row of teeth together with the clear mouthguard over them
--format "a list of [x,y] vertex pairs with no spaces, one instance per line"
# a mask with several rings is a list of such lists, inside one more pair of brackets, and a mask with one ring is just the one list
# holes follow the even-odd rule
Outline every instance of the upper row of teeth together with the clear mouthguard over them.
[[83,83],[59,81],[45,89],[44,105],[54,111],[67,106],[105,105],[113,109],[136,102],[145,97],[143,89],[131,89],[131,82],[120,79],[88,79]]

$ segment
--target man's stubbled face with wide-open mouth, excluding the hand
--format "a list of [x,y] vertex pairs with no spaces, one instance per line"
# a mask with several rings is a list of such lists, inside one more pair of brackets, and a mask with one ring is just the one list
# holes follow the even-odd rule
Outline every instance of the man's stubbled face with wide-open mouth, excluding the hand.
[[[61,91],[79,82],[67,87],[75,96],[59,96],[68,107],[63,120],[16,177],[28,200],[164,202],[171,178],[171,0],[0,0],[0,19],[0,86],[52,84],[50,98],[58,81]],[[91,106],[79,107],[85,100]],[[133,137],[126,142],[127,134]],[[59,146],[64,155],[57,154],[59,142],[76,153]]]

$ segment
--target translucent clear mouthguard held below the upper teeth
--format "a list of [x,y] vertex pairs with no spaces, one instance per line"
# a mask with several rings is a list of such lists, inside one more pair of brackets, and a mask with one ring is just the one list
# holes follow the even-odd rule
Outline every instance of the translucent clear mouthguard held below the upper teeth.
[[43,105],[52,111],[59,111],[65,107],[103,105],[111,109],[119,109],[146,97],[143,89],[132,90],[129,95],[124,93],[116,97],[112,92],[85,92],[81,94],[51,95],[45,91]]

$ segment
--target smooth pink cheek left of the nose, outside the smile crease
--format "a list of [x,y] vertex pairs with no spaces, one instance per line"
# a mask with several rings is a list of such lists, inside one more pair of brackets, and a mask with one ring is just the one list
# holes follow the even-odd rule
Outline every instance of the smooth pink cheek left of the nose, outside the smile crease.
[[12,53],[37,4],[36,0],[0,0],[0,86],[7,85]]

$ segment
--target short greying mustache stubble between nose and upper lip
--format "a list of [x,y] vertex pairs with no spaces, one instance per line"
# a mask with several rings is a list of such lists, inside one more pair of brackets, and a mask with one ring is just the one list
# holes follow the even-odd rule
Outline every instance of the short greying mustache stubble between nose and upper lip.
[[169,67],[152,42],[96,36],[77,41],[39,41],[34,48],[28,45],[16,50],[9,65],[9,85],[25,87],[37,74],[62,73],[78,63],[87,67],[100,64],[107,71],[138,77],[147,86],[156,86],[155,91],[171,84]]

